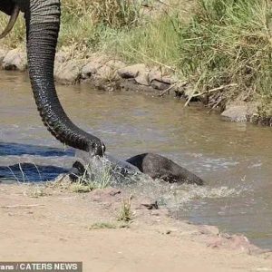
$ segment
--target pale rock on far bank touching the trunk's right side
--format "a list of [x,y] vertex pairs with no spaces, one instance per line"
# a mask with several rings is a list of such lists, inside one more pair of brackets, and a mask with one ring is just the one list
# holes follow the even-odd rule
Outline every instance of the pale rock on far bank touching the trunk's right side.
[[55,65],[54,77],[59,83],[75,84],[81,78],[83,64],[77,61],[57,63]]

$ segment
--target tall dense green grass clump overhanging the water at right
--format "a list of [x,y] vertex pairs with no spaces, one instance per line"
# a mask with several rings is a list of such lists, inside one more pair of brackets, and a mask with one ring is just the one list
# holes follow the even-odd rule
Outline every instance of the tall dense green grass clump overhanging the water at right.
[[271,15],[266,0],[199,0],[191,22],[180,28],[180,71],[198,83],[197,92],[237,84],[212,93],[220,99],[214,103],[269,103]]

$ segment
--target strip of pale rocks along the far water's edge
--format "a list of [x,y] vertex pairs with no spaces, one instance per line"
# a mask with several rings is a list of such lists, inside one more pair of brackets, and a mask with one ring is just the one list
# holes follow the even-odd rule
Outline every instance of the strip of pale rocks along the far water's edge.
[[[0,65],[7,71],[27,71],[26,53],[22,49],[1,49]],[[105,92],[132,91],[154,97],[170,96],[184,101],[185,106],[200,102],[210,111],[220,112],[226,121],[251,122],[272,126],[272,116],[262,116],[256,102],[229,103],[226,109],[209,107],[209,92],[235,88],[235,84],[221,86],[209,92],[194,94],[192,83],[180,81],[170,70],[144,63],[127,64],[102,53],[93,53],[87,59],[73,59],[69,53],[58,52],[55,57],[54,79],[60,84],[89,84]]]

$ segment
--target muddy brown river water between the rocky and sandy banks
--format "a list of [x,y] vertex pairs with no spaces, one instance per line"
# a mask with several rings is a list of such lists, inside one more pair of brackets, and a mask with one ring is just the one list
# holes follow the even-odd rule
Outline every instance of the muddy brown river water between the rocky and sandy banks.
[[[53,179],[71,166],[73,150],[64,150],[44,129],[27,76],[3,71],[0,76],[2,181],[20,172],[13,164],[33,161],[35,168],[18,180]],[[73,121],[100,137],[112,155],[124,159],[157,152],[207,184],[158,183],[140,186],[139,192],[159,198],[179,219],[242,233],[259,247],[272,249],[271,128],[221,121],[205,109],[184,109],[180,101],[131,92],[78,85],[58,86],[58,93]]]

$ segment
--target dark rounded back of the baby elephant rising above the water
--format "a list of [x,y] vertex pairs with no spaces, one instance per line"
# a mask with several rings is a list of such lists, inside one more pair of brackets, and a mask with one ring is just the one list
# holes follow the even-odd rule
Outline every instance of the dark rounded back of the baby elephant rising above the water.
[[165,180],[170,183],[204,184],[203,180],[189,170],[158,154],[143,153],[126,161],[136,166],[142,173],[149,175],[152,179]]

